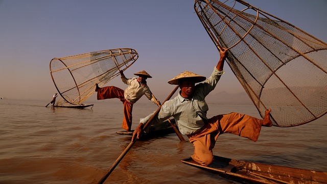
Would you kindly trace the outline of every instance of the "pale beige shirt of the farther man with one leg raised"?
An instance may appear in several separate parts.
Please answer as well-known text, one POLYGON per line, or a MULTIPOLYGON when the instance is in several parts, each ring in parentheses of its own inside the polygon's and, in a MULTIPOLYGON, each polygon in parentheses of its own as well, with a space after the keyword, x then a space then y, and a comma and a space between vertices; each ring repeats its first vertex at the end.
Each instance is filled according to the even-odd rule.
POLYGON ((121 75, 121 79, 125 84, 129 85, 124 90, 124 96, 128 102, 130 102, 131 104, 134 104, 143 95, 145 95, 149 100, 151 100, 151 102, 156 104, 156 99, 154 99, 154 97, 152 96, 150 88, 147 84, 145 84, 145 85, 140 84, 137 81, 137 78, 133 77, 131 79, 128 79, 125 77, 125 75, 121 75))

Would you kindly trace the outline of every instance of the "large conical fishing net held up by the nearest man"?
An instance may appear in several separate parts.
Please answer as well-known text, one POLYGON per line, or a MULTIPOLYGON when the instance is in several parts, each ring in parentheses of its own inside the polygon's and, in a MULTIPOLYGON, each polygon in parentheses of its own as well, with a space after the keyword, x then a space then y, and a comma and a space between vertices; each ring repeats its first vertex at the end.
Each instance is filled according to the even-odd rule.
POLYGON ((273 125, 290 127, 327 112, 325 42, 241 0, 194 8, 262 117, 271 108, 273 125))

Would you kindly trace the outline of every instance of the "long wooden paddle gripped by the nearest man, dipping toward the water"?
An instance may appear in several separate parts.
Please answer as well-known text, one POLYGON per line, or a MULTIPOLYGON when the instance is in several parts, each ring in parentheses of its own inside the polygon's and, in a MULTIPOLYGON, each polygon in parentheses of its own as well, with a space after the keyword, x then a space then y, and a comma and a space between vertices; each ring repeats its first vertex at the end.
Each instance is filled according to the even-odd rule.
MULTIPOLYGON (((174 93, 176 92, 177 89, 178 89, 178 85, 175 87, 175 89, 172 91, 172 93, 167 97, 167 99, 162 104, 164 104, 167 100, 172 98, 172 96, 174 95, 174 93)), ((160 111, 160 107, 154 112, 152 117, 144 125, 143 129, 145 129, 150 124, 150 122, 159 113, 159 111, 160 111)), ((131 141, 129 143, 129 145, 125 148, 125 150, 121 153, 121 155, 119 155, 119 157, 116 159, 116 161, 112 164, 111 168, 107 171, 107 173, 100 179, 98 184, 100 184, 100 183, 102 184, 107 179, 107 177, 111 174, 111 172, 114 170, 114 168, 121 162, 121 160, 124 158, 124 156, 127 154, 127 152, 132 148, 134 143, 136 143, 136 141, 137 141, 137 139, 135 139, 135 141, 131 141)))

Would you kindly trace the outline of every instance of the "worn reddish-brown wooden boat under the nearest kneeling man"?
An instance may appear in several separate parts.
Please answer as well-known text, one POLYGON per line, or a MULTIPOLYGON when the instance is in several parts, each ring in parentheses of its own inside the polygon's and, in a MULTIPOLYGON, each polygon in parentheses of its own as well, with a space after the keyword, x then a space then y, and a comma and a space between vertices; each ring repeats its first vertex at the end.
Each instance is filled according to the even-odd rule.
POLYGON ((327 183, 327 172, 252 163, 214 156, 214 163, 201 166, 191 157, 182 163, 240 183, 327 183))

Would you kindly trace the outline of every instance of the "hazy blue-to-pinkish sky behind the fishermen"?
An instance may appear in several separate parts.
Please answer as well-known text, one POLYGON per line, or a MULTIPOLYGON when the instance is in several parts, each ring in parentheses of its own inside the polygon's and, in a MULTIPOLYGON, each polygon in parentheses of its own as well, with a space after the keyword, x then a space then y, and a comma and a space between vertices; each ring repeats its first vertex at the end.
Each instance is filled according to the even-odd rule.
MULTIPOLYGON (((326 0, 247 2, 327 41, 326 0)), ((219 59, 192 0, 0 0, 0 97, 51 100, 52 58, 115 48, 137 50, 125 75, 146 70, 155 96, 170 94, 167 81, 185 70, 208 77, 219 59)), ((216 93, 243 91, 225 71, 216 93)), ((126 87, 119 77, 107 85, 126 87)))

